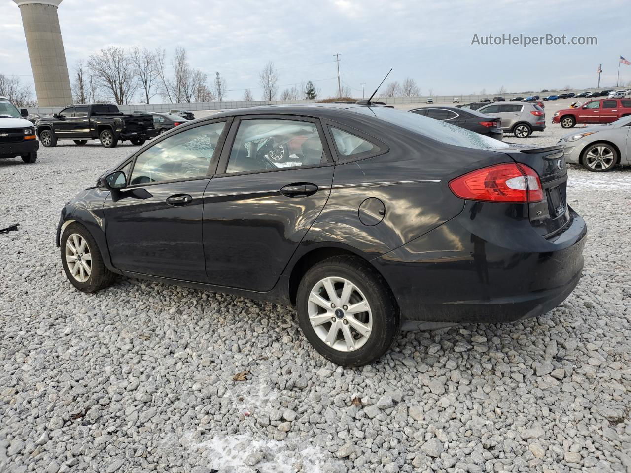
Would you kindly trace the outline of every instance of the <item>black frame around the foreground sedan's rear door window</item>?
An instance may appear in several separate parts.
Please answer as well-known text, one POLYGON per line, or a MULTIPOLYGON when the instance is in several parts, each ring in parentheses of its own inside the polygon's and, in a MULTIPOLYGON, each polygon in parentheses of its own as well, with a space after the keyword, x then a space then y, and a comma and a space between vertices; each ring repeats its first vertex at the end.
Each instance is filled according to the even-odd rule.
POLYGON ((232 176, 245 176, 249 174, 260 174, 266 172, 282 172, 282 171, 290 171, 293 169, 308 169, 308 168, 320 168, 322 166, 332 166, 334 165, 334 161, 332 159, 332 153, 329 149, 326 134, 324 134, 324 128, 322 127, 321 120, 317 117, 305 117, 303 115, 274 115, 274 114, 265 114, 265 115, 238 115, 233 117, 234 120, 232 122, 232 126, 230 127, 230 133, 225 141, 225 146, 223 146, 223 150, 221 151, 221 156, 218 160, 218 166, 216 168, 215 177, 223 178, 223 177, 232 177, 232 176), (324 157, 326 158, 326 163, 318 163, 318 164, 309 164, 304 166, 291 166, 286 168, 275 168, 275 169, 257 169, 252 171, 244 171, 244 172, 230 172, 227 173, 226 170, 228 168, 228 161, 230 160, 230 154, 232 153, 232 147, 235 144, 235 139, 237 139, 237 132, 239 131, 239 126, 244 120, 292 120, 294 122, 309 122, 315 125, 318 136, 320 137, 320 141, 322 142, 322 151, 324 151, 324 157))

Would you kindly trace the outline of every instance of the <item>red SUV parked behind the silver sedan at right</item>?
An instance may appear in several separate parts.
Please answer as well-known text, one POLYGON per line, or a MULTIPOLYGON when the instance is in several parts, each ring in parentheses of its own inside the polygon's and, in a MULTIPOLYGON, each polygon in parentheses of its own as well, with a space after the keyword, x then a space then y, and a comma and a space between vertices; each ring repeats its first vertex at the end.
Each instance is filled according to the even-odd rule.
POLYGON ((579 108, 555 112, 552 123, 572 128, 577 123, 609 123, 631 115, 631 98, 601 98, 584 103, 579 108))

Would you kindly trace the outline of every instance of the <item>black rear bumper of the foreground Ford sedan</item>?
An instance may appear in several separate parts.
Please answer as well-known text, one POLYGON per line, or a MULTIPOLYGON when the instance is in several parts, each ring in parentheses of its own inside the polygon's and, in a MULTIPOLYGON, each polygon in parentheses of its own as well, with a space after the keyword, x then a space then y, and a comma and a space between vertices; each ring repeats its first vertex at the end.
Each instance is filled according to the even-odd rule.
POLYGON ((468 202, 459 216, 372 260, 404 321, 521 320, 557 307, 575 288, 587 233, 581 216, 570 211, 569 226, 545 240, 528 219, 482 222, 478 204, 468 202))

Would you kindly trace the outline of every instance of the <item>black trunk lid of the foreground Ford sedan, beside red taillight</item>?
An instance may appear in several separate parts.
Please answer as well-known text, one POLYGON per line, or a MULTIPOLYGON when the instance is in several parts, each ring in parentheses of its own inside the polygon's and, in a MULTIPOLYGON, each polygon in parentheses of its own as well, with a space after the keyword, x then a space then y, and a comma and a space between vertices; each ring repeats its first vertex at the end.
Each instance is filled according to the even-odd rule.
POLYGON ((567 206, 567 166, 563 158, 563 145, 531 148, 509 144, 501 151, 517 163, 530 166, 539 175, 543 188, 543 201, 528 204, 529 218, 541 237, 552 238, 570 223, 567 206))

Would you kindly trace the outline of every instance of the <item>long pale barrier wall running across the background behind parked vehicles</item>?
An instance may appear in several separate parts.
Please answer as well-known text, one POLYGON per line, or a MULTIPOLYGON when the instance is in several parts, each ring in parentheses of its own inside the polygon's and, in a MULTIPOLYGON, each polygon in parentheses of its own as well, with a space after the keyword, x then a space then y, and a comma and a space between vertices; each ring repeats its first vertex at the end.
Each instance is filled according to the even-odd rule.
MULTIPOLYGON (((460 103, 470 103, 470 102, 480 102, 482 98, 490 98, 493 100, 493 96, 501 95, 506 100, 510 100, 510 98, 514 98, 517 96, 526 97, 528 95, 540 95, 542 98, 547 95, 558 95, 560 93, 574 92, 579 93, 582 91, 595 91, 595 90, 603 90, 600 89, 575 89, 575 90, 558 90, 558 91, 550 91, 550 92, 533 92, 533 93, 489 93, 487 95, 434 95, 432 96, 433 103, 452 103, 454 97, 458 97, 460 99, 460 103)), ((396 108, 405 108, 406 104, 409 104, 410 107, 413 105, 427 103, 427 99, 429 96, 417 96, 417 97, 380 97, 377 100, 379 102, 386 102, 388 105, 394 105, 396 108)), ((584 101, 585 99, 582 99, 584 101)), ((285 105, 288 103, 317 103, 319 100, 254 100, 252 102, 199 102, 199 103, 151 103, 147 105, 146 103, 138 103, 134 105, 119 105, 119 109, 121 112, 125 114, 129 114, 134 112, 135 110, 144 110, 145 112, 158 112, 165 113, 170 110, 189 110, 190 112, 196 112, 198 110, 229 110, 232 108, 247 108, 247 107, 259 107, 261 105, 285 105)), ((70 104, 69 104, 70 105, 70 104)), ((28 108, 28 112, 31 114, 38 115, 50 115, 59 112, 64 107, 35 107, 28 108)))

